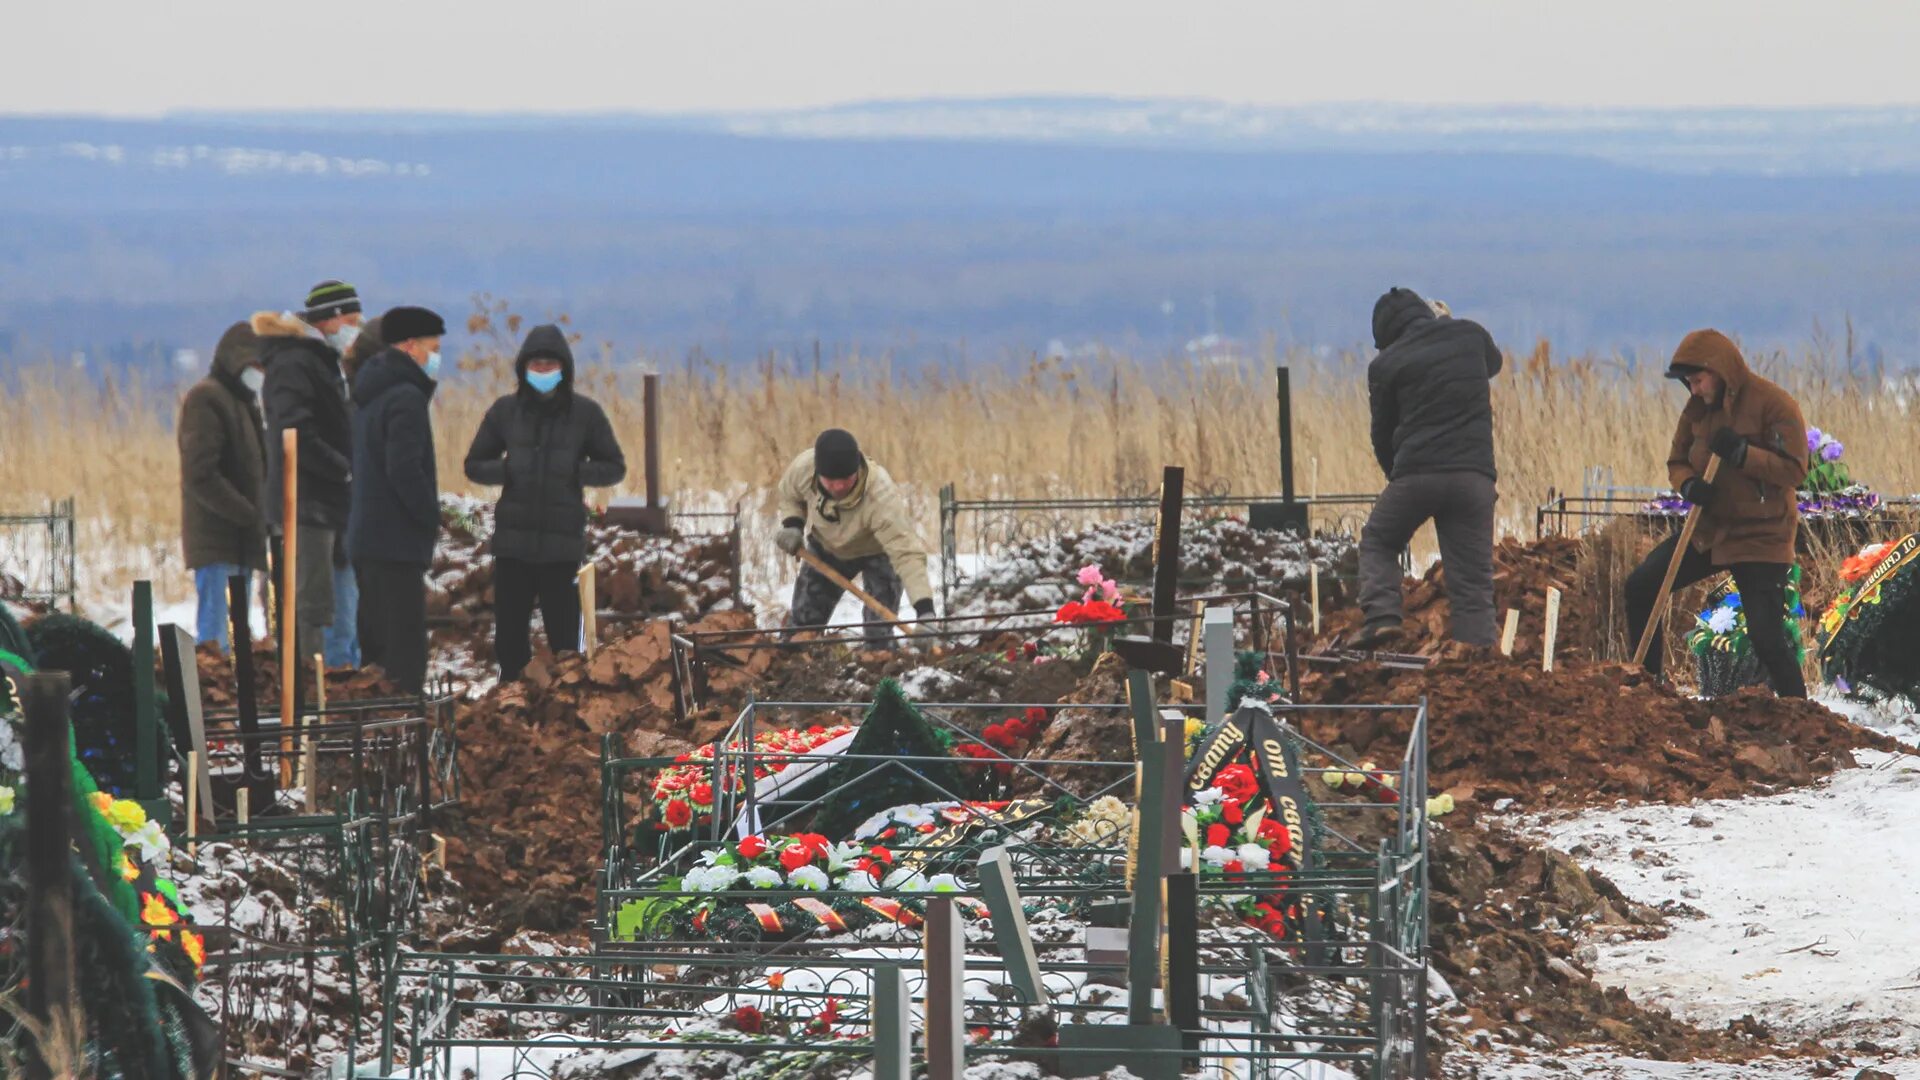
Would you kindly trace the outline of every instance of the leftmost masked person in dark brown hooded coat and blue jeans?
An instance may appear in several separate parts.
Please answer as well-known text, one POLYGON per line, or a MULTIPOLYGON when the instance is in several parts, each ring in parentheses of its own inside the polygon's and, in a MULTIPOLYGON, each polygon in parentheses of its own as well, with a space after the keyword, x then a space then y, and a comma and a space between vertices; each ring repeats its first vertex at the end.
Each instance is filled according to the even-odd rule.
POLYGON ((200 598, 196 638, 227 650, 227 580, 267 569, 261 488, 259 338, 234 323, 213 350, 213 369, 180 402, 180 542, 200 598))

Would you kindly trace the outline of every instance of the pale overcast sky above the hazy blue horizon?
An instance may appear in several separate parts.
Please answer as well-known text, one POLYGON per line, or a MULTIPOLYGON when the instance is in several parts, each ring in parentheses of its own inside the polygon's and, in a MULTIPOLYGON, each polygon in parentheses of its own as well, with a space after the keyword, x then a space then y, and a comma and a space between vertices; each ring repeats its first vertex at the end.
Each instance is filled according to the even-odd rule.
POLYGON ((707 111, 1016 94, 1920 104, 1920 4, 23 0, 0 111, 707 111))

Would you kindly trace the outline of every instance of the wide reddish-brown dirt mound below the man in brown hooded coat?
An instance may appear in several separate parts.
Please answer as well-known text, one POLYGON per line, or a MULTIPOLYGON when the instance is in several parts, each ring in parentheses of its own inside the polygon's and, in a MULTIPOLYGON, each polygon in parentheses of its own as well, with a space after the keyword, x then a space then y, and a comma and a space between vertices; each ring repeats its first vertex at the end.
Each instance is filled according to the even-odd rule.
MULTIPOLYGON (((1899 751, 1811 701, 1764 690, 1699 701, 1620 665, 1442 661, 1427 671, 1352 665, 1309 673, 1306 701, 1396 703, 1427 698, 1432 790, 1528 807, 1613 799, 1684 803, 1811 784, 1853 765, 1857 748, 1899 751)), ((1405 713, 1327 713, 1308 734, 1369 755, 1402 748, 1405 713)), ((1398 757, 1398 753, 1396 753, 1398 757)))

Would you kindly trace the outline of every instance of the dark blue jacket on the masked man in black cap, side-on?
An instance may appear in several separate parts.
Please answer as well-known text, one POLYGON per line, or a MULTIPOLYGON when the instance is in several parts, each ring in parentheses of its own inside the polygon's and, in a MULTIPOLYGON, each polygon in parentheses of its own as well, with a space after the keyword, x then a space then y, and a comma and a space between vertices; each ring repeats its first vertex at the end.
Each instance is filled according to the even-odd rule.
POLYGON ((348 552, 428 567, 440 536, 434 380, 399 350, 384 350, 353 379, 353 523, 348 552))

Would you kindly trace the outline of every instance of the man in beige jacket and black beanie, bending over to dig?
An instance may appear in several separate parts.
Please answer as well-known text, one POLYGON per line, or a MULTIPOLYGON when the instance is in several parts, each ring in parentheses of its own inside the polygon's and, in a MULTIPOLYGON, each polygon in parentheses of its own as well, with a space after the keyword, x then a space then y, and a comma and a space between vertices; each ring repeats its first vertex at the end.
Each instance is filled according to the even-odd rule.
MULTIPOLYGON (((828 429, 812 450, 787 465, 780 479, 780 509, 774 542, 781 552, 799 555, 806 544, 841 577, 860 577, 866 592, 889 609, 899 611, 904 586, 914 596, 914 615, 933 615, 927 546, 906 511, 906 496, 887 469, 860 454, 852 434, 828 429)), ((826 575, 801 565, 787 625, 826 626, 843 594, 826 575)), ((868 644, 885 646, 891 636, 883 623, 866 623, 868 644)))

